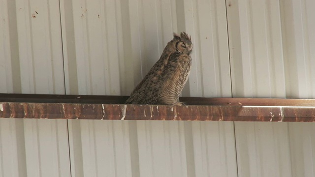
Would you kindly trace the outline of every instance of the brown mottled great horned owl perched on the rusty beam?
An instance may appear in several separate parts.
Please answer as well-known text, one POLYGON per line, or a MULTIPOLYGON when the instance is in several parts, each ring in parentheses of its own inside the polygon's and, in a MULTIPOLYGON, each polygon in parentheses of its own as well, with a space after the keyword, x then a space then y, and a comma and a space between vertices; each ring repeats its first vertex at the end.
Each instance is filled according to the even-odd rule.
POLYGON ((173 33, 160 59, 131 92, 125 104, 182 105, 179 95, 191 66, 191 38, 186 32, 173 33))

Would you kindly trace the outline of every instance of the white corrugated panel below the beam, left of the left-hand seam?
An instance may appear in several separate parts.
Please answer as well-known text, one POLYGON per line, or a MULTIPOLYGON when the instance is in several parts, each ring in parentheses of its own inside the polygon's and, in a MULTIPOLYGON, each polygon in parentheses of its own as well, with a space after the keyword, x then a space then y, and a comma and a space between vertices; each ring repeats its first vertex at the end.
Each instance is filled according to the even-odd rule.
POLYGON ((66 120, 0 119, 0 177, 69 177, 66 120))

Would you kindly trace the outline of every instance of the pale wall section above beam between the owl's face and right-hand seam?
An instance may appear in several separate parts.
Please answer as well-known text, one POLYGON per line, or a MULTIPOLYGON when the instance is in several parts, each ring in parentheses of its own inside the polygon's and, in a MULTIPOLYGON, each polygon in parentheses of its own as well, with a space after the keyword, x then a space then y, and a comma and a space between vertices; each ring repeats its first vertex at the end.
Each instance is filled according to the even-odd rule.
MULTIPOLYGON (((191 34, 194 44, 189 82, 183 95, 230 96, 228 41, 224 32, 227 30, 225 2, 196 0, 184 2, 183 6, 184 17, 177 17, 185 21, 181 28, 191 34)), ((183 7, 179 5, 178 8, 183 7)))

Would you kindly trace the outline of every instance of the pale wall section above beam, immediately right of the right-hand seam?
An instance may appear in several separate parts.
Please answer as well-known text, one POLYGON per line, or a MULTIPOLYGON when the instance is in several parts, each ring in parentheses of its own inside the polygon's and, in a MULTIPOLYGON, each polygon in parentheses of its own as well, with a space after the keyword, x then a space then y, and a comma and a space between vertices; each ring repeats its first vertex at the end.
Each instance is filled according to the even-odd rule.
POLYGON ((280 5, 277 0, 227 4, 234 97, 285 97, 280 5))

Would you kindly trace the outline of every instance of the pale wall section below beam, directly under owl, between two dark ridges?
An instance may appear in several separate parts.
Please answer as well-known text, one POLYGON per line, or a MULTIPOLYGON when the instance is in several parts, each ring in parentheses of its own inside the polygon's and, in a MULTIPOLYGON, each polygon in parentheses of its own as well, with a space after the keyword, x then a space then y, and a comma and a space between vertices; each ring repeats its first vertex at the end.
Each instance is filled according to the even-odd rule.
POLYGON ((183 123, 137 121, 140 176, 187 177, 183 123))

